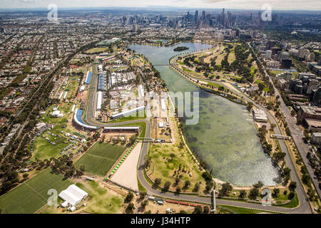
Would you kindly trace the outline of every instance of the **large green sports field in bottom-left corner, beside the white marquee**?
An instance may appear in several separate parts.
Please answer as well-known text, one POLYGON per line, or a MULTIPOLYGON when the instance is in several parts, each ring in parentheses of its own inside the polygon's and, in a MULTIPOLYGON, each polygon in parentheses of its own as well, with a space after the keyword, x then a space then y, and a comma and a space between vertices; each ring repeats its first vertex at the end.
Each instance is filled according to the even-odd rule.
POLYGON ((63 180, 63 175, 51 173, 51 168, 36 177, 24 182, 14 190, 0 197, 0 208, 6 214, 31 214, 47 203, 51 195, 48 190, 54 189, 59 194, 73 182, 63 180))

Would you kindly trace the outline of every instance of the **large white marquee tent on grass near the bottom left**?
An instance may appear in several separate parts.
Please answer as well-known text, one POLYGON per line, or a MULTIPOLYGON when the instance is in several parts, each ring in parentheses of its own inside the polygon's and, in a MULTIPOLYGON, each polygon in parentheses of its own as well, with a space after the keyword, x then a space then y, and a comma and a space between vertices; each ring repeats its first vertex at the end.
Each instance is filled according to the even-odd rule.
POLYGON ((80 203, 81 200, 88 196, 88 193, 81 190, 76 185, 70 185, 66 190, 63 190, 58 197, 71 204, 71 206, 75 206, 80 203))

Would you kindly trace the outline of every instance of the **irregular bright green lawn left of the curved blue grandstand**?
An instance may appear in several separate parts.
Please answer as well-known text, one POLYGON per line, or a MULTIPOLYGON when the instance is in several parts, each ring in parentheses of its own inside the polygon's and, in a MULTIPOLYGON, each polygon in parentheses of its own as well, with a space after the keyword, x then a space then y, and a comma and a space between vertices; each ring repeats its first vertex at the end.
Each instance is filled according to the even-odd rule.
MULTIPOLYGON (((51 130, 51 133, 54 133, 58 135, 56 131, 51 130)), ((52 145, 51 143, 47 142, 46 138, 43 138, 42 136, 39 136, 34 140, 34 152, 32 153, 31 160, 34 161, 36 159, 44 160, 44 159, 50 159, 50 157, 56 157, 61 150, 63 150, 64 147, 71 144, 68 142, 68 144, 65 144, 63 142, 66 142, 66 138, 58 138, 49 135, 47 132, 44 132, 46 137, 48 137, 51 142, 56 142, 56 145, 52 145)))

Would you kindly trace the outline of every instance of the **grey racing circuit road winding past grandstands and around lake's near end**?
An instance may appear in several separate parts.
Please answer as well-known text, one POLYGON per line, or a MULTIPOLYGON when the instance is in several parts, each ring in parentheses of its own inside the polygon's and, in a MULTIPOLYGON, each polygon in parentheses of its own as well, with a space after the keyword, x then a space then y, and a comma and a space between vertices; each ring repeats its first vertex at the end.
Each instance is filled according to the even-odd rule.
MULTIPOLYGON (((93 78, 92 78, 92 84, 91 84, 91 93, 89 95, 88 100, 88 108, 86 110, 86 122, 90 125, 98 126, 98 127, 106 127, 106 126, 113 126, 113 125, 119 125, 119 124, 126 124, 126 123, 139 123, 139 122, 145 122, 146 123, 146 137, 151 137, 151 123, 149 119, 145 120, 133 120, 128 122, 122 122, 122 123, 100 123, 97 122, 94 119, 94 112, 96 108, 96 91, 97 91, 97 82, 98 82, 98 75, 97 75, 97 69, 95 67, 93 72, 93 78)), ((246 98, 249 99, 249 98, 246 98)), ((253 101, 251 101, 253 102, 253 101)), ((259 105, 260 107, 260 105, 259 105)), ((265 110, 265 108, 263 108, 265 110)), ((268 115, 268 113, 267 113, 268 115)), ((274 119, 272 118, 272 121, 274 119)), ((274 120, 275 121, 275 120, 274 120)), ((273 122, 272 122, 273 123, 273 122)), ((277 133, 277 131, 276 131, 277 133)), ((160 190, 153 189, 151 185, 148 184, 147 180, 144 177, 144 171, 143 171, 143 164, 144 164, 144 157, 148 154, 148 145, 149 142, 144 142, 141 150, 141 155, 138 160, 138 180, 141 182, 141 185, 146 188, 148 195, 155 195, 170 199, 179 199, 179 200, 185 200, 190 202, 199 202, 199 203, 206 203, 210 204, 211 198, 210 197, 200 197, 196 195, 175 195, 171 192, 161 192, 160 190)), ((282 147, 282 150, 287 151, 286 147, 284 145, 284 142, 280 141, 280 145, 282 147)), ((290 160, 290 157, 288 157, 288 153, 286 156, 287 163, 292 165, 292 162, 290 160)), ((291 175, 296 182, 300 183, 300 181, 297 180, 297 175, 295 172, 295 169, 293 167, 291 168, 291 175)), ((300 199, 300 206, 295 209, 290 209, 287 207, 276 207, 276 206, 263 206, 263 204, 257 204, 257 203, 250 203, 250 202, 238 202, 238 201, 232 201, 232 200, 226 200, 226 199, 216 199, 217 204, 225 204, 235 207, 248 207, 253 209, 261 209, 261 210, 270 210, 273 212, 282 212, 282 213, 295 213, 295 214, 306 214, 311 213, 309 204, 307 203, 307 200, 305 199, 305 194, 302 192, 302 186, 297 186, 297 195, 300 199)))

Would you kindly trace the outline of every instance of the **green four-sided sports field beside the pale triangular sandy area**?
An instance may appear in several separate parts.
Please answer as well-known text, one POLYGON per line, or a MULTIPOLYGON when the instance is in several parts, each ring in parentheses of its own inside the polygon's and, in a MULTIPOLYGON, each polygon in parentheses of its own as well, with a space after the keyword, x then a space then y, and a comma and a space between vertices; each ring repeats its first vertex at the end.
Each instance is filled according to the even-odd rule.
POLYGON ((125 147, 96 142, 75 164, 85 166, 85 172, 103 177, 124 152, 125 147))

